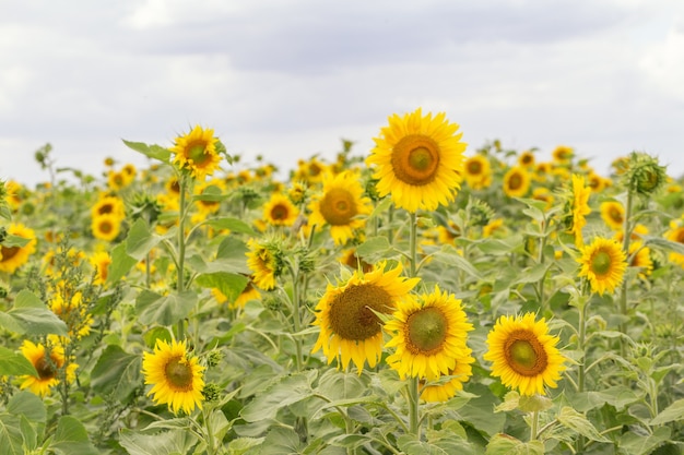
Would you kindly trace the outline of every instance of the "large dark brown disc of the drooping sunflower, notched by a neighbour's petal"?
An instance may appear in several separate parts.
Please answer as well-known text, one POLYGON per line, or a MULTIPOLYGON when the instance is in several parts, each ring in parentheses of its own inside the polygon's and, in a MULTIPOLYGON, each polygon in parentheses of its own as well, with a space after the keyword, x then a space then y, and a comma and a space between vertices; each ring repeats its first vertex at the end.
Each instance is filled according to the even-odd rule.
POLYGON ((381 287, 351 286, 332 300, 330 326, 343 339, 362 342, 380 333, 381 322, 373 311, 389 314, 392 309, 392 299, 381 287))

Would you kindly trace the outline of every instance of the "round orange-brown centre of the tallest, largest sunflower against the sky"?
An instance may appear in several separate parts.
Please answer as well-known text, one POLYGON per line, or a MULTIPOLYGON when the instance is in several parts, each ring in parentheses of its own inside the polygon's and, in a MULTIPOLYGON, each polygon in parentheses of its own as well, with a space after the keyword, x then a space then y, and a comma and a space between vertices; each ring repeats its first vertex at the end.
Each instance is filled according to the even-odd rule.
POLYGON ((437 176, 439 145, 423 134, 409 134, 394 145, 391 163, 394 175, 404 183, 428 184, 437 176))

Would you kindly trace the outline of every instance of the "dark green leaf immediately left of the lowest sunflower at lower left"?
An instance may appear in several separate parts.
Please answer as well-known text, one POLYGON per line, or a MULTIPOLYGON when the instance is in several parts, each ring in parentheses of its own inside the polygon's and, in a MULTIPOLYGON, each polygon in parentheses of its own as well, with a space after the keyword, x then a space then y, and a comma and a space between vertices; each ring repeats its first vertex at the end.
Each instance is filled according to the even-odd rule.
POLYGON ((118 402, 128 403, 133 392, 142 385, 141 367, 139 355, 109 345, 93 367, 91 385, 102 395, 111 395, 118 402))

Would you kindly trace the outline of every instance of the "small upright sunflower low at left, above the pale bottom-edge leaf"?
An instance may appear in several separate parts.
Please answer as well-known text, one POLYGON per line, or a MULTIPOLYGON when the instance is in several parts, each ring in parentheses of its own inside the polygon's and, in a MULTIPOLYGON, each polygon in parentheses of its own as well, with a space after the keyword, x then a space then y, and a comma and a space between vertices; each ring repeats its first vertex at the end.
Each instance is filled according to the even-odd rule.
POLYGON ((185 340, 168 344, 157 338, 154 354, 143 352, 145 384, 153 385, 148 395, 154 395, 157 405, 168 404, 174 414, 202 408, 203 371, 198 358, 188 355, 185 340))

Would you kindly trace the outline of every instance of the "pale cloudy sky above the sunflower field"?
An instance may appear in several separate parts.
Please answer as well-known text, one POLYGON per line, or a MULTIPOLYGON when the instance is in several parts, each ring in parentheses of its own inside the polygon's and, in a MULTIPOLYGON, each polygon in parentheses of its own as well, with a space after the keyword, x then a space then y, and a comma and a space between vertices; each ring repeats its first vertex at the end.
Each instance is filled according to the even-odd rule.
MULTIPOLYGON (((392 113, 460 125, 467 154, 632 151, 684 173, 682 0, 0 0, 0 179, 34 159, 102 176, 212 128, 240 167, 366 156, 392 113)), ((229 170, 229 169, 228 169, 229 170)), ((61 173, 60 176, 67 176, 61 173)))

